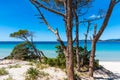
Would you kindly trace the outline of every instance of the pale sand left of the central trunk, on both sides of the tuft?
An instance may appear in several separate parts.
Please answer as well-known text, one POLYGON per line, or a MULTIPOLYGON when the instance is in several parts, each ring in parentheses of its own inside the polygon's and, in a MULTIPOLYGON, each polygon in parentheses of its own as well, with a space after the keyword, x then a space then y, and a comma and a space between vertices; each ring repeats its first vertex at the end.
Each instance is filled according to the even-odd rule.
MULTIPOLYGON (((25 80, 25 73, 30 67, 35 67, 28 65, 29 62, 26 61, 18 61, 18 60, 3 60, 0 61, 0 68, 4 67, 8 71, 8 75, 0 76, 0 80, 5 80, 9 76, 13 78, 13 80, 25 80), (19 64, 21 67, 18 68, 9 68, 10 65, 19 64)), ((49 80, 64 80, 66 78, 65 72, 58 68, 48 67, 43 70, 45 73, 49 74, 49 80)), ((38 80, 47 80, 44 78, 39 78, 38 80)))

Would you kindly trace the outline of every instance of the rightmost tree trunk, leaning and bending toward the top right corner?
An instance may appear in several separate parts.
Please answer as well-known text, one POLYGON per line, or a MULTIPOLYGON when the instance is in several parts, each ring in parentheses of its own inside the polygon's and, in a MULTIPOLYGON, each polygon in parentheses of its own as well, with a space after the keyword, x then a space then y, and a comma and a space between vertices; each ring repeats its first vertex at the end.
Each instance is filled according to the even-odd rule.
MULTIPOLYGON (((118 1, 120 2, 120 1, 118 1)), ((92 42, 92 52, 90 54, 90 62, 89 62, 89 76, 93 77, 93 71, 94 71, 94 55, 95 55, 95 50, 96 50, 96 43, 99 40, 100 36, 102 35, 103 31, 105 30, 105 28, 107 27, 107 24, 109 22, 110 16, 112 14, 112 11, 114 9, 114 6, 116 5, 116 0, 111 0, 107 14, 105 16, 105 19, 103 21, 103 24, 100 28, 100 30, 98 31, 98 33, 96 34, 95 38, 93 39, 92 42)))

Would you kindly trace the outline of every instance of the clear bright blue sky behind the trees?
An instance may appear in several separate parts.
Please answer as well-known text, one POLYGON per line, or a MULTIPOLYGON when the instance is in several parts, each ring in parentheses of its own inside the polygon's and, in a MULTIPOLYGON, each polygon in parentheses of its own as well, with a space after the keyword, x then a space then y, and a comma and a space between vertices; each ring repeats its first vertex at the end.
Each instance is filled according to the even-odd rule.
MULTIPOLYGON (((106 10, 110 0, 94 0, 92 7, 89 9, 88 18, 97 16, 100 9, 106 10)), ((50 25, 56 29, 58 27, 62 40, 66 40, 65 26, 62 17, 42 10, 50 25)), ((10 33, 20 29, 27 29, 34 33, 34 41, 56 41, 55 35, 47 29, 44 23, 38 19, 38 12, 29 0, 1 0, 0 2, 0 41, 20 41, 9 37, 10 33)), ((85 16, 85 17, 86 17, 85 16)), ((120 4, 117 4, 113 10, 109 24, 102 34, 102 40, 120 39, 120 4)), ((103 20, 93 22, 97 23, 99 30, 103 20)), ((93 27, 90 28, 89 37, 92 35, 93 27)), ((80 26, 80 39, 84 39, 86 27, 80 26)), ((73 30, 75 32, 75 30, 73 30)), ((75 37, 73 33, 73 37, 75 37)))

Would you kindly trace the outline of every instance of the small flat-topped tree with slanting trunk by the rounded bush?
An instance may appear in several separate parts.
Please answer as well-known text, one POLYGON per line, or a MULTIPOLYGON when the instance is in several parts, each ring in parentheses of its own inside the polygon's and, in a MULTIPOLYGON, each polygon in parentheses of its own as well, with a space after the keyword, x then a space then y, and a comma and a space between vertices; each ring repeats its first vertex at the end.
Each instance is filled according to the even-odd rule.
MULTIPOLYGON (((40 51, 40 50, 38 50, 37 48, 36 48, 36 46, 34 45, 34 42, 33 42, 33 32, 30 32, 30 31, 28 31, 28 30, 19 30, 19 31, 17 31, 17 32, 13 32, 13 33, 11 33, 10 34, 10 37, 13 37, 13 38, 19 38, 19 39, 21 39, 21 40, 24 40, 24 42, 27 44, 26 46, 29 46, 29 47, 26 47, 25 46, 25 52, 27 51, 29 51, 29 49, 30 50, 32 50, 32 53, 31 53, 31 51, 30 51, 30 53, 31 53, 31 55, 34 57, 36 57, 37 56, 37 58, 39 59, 39 61, 41 62, 41 56, 44 56, 44 57, 46 57, 44 54, 43 54, 43 52, 42 51, 40 51)), ((28 54, 27 54, 28 55, 28 54)), ((18 57, 19 55, 17 55, 17 57, 18 57)))

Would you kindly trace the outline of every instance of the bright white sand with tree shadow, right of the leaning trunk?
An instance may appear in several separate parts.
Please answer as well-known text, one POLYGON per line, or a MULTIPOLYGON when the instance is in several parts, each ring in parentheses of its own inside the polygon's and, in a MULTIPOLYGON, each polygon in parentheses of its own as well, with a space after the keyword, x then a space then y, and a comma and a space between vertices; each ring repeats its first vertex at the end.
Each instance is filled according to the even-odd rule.
MULTIPOLYGON (((95 80, 120 80, 120 62, 115 61, 100 61, 102 66, 94 71, 95 80)), ((89 77, 83 77, 82 80, 94 80, 89 77)))

